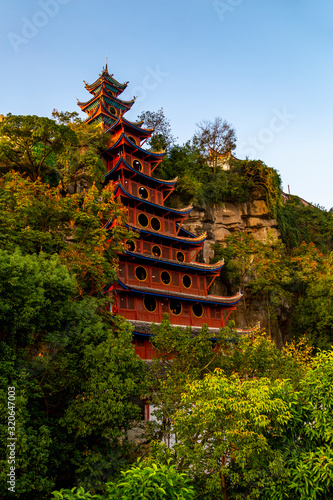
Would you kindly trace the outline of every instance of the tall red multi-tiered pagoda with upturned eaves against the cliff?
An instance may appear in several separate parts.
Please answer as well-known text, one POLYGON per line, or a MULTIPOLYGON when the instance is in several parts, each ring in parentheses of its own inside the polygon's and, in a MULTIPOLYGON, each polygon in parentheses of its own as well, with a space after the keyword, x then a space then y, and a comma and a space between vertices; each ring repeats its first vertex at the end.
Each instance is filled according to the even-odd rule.
POLYGON ((151 359, 151 325, 161 323, 165 313, 173 325, 190 326, 192 331, 207 324, 214 337, 226 325, 241 294, 209 294, 223 262, 202 264, 195 260, 206 233, 196 236, 184 228, 192 206, 176 209, 166 205, 177 178, 154 177, 165 152, 144 149, 153 129, 124 118, 134 103, 134 99, 118 97, 126 85, 117 82, 106 66, 93 84, 86 84, 93 97, 78 104, 88 114, 86 121, 100 123, 110 136, 103 153, 108 170, 105 181, 114 183, 115 196, 128 210, 127 227, 138 235, 124 242, 118 280, 107 291, 115 294, 117 312, 134 325, 136 353, 151 359))

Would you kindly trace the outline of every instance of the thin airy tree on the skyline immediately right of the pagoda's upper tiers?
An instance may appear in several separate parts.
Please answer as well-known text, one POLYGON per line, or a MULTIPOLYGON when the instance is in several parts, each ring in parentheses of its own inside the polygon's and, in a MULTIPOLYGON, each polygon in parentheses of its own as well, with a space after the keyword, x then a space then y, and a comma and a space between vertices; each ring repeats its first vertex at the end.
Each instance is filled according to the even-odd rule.
POLYGON ((175 138, 171 134, 169 120, 165 117, 163 108, 158 111, 143 111, 138 116, 139 121, 143 121, 145 128, 153 128, 154 132, 147 141, 147 145, 152 151, 169 150, 174 144, 175 138))

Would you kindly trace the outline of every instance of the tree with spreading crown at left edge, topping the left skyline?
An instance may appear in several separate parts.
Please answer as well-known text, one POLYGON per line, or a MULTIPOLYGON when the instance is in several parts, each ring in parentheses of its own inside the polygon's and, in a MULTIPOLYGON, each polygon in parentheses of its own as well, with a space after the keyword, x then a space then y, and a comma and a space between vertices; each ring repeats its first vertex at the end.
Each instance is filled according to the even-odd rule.
POLYGON ((77 145, 67 125, 39 116, 7 115, 0 124, 0 169, 20 172, 31 181, 59 183, 57 156, 77 145))

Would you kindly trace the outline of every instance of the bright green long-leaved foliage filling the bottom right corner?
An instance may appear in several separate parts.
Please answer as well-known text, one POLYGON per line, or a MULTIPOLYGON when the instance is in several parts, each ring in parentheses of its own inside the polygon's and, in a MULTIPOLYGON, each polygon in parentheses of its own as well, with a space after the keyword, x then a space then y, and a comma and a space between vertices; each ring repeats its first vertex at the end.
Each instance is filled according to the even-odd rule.
POLYGON ((267 498, 326 500, 333 494, 333 352, 321 352, 301 380, 298 405, 285 433, 287 481, 268 488, 267 498))

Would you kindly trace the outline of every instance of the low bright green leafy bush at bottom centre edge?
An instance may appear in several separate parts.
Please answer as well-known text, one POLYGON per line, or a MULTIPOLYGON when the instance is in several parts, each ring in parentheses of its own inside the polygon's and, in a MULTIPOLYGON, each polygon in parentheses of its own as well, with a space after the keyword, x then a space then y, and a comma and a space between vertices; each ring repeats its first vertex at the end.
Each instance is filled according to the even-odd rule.
POLYGON ((121 479, 109 483, 108 500, 192 500, 194 489, 189 485, 186 474, 177 472, 174 465, 147 465, 144 461, 126 471, 121 479))

